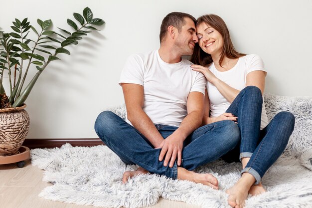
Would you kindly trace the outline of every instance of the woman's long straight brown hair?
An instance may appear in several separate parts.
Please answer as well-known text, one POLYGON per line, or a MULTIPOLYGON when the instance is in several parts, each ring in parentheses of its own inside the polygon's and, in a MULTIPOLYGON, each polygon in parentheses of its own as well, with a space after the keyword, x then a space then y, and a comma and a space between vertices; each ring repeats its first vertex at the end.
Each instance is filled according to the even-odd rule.
MULTIPOLYGON (((231 41, 229 30, 223 21, 223 19, 215 14, 206 14, 198 17, 196 25, 201 23, 206 23, 209 26, 213 27, 215 30, 220 32, 223 38, 223 48, 221 51, 221 57, 219 64, 222 67, 221 63, 224 59, 224 56, 227 58, 239 58, 245 56, 244 53, 239 53, 235 50, 233 43, 231 41)), ((193 55, 191 56, 191 62, 194 64, 199 64, 202 66, 209 66, 213 61, 211 55, 205 53, 200 47, 199 44, 195 44, 193 55)))

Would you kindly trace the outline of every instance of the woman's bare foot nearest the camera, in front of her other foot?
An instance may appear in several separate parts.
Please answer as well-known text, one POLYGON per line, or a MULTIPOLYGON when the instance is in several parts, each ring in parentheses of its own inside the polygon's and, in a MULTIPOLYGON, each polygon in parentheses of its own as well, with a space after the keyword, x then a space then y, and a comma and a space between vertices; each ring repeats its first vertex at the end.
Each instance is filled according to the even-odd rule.
POLYGON ((243 208, 245 206, 248 191, 255 181, 251 174, 244 173, 232 188, 226 190, 226 193, 230 195, 227 201, 232 208, 243 208))

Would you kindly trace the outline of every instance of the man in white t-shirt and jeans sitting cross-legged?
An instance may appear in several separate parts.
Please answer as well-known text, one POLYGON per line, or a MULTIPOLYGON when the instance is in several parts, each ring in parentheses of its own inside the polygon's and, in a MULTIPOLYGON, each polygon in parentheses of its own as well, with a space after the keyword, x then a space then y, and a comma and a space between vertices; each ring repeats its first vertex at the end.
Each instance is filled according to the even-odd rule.
POLYGON ((160 48, 130 56, 124 66, 123 88, 127 119, 102 112, 95 130, 103 142, 126 164, 140 166, 125 172, 129 177, 148 172, 189 180, 218 189, 211 174, 191 170, 214 161, 239 141, 238 126, 229 120, 201 126, 204 113, 204 76, 192 71, 191 55, 196 20, 171 12, 160 27, 160 48))

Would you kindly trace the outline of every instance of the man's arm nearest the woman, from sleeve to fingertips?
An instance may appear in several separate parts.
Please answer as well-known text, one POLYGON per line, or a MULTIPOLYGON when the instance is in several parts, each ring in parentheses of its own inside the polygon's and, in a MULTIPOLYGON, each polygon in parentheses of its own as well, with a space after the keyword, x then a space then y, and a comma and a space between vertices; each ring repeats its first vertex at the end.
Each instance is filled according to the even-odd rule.
POLYGON ((204 115, 204 95, 201 92, 190 92, 186 107, 187 116, 183 119, 179 128, 168 136, 160 145, 162 149, 159 154, 159 161, 162 161, 166 154, 163 165, 167 166, 170 161, 170 168, 173 167, 176 156, 177 165, 181 165, 183 141, 195 129, 200 127, 202 123, 204 115))

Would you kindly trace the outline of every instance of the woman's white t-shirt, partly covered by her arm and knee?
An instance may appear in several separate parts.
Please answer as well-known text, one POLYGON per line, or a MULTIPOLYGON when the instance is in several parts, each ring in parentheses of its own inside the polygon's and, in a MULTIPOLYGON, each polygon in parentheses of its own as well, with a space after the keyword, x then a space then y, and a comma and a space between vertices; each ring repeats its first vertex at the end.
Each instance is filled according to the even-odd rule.
MULTIPOLYGON (((210 65, 209 69, 218 79, 237 90, 242 90, 246 87, 246 77, 249 72, 257 70, 266 72, 262 59, 256 54, 240 57, 236 65, 227 71, 218 71, 214 63, 210 65)), ((207 82, 206 87, 210 101, 210 116, 217 117, 223 114, 228 109, 228 107, 230 107, 231 103, 210 82, 207 82)), ((268 116, 266 114, 266 109, 263 102, 261 129, 267 125, 268 116)))

